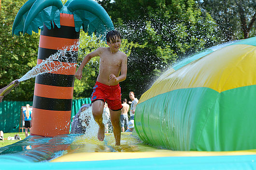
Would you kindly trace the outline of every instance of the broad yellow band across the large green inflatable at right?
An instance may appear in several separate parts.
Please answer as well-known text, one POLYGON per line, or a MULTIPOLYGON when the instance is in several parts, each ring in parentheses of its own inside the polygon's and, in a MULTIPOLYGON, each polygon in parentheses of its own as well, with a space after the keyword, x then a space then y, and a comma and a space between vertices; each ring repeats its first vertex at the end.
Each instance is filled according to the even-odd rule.
POLYGON ((139 103, 176 89, 209 87, 223 91, 256 85, 256 47, 232 45, 216 50, 179 70, 160 76, 139 103), (250 81, 248 81, 250 80, 250 81))

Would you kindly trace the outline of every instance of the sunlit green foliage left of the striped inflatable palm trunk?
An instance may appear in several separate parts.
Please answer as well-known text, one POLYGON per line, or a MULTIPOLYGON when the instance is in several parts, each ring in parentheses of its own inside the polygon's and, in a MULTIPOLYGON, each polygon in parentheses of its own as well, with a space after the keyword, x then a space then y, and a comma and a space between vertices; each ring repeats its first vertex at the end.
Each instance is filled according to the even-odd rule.
MULTIPOLYGON (((0 15, 0 88, 21 78, 37 62, 39 35, 12 36, 16 13, 27 0, 1 1, 0 15)), ((34 79, 21 82, 4 100, 32 100, 34 79)))

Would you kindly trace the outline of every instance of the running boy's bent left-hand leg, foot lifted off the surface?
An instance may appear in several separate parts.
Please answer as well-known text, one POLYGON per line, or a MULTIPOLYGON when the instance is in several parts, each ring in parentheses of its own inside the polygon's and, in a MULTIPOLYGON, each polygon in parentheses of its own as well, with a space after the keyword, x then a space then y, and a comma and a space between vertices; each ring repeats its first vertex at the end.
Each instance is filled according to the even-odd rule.
POLYGON ((92 115, 94 120, 99 125, 99 131, 98 131, 98 139, 100 141, 104 140, 105 137, 105 126, 103 124, 102 119, 102 113, 104 109, 104 101, 102 100, 96 100, 92 103, 92 115))

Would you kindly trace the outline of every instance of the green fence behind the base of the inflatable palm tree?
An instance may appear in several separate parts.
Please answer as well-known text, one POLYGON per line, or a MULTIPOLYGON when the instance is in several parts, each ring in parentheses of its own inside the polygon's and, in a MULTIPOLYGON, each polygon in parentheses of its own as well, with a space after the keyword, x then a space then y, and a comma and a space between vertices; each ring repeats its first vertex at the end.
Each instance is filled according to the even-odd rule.
MULTIPOLYGON (((90 98, 74 99, 72 101, 71 117, 83 104, 91 103, 90 98)), ((0 103, 0 130, 4 133, 19 132, 20 109, 22 106, 33 105, 32 101, 2 101, 0 103)))

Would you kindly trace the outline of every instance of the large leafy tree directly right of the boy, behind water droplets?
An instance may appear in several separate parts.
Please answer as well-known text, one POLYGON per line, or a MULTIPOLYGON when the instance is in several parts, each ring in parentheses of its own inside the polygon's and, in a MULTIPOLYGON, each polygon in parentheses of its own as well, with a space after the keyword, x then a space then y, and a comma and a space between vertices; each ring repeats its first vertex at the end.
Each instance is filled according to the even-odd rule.
POLYGON ((128 76, 122 93, 137 97, 176 60, 220 42, 217 27, 195 0, 99 0, 114 26, 129 42, 145 44, 132 48, 128 76))

